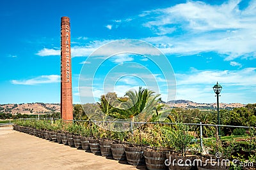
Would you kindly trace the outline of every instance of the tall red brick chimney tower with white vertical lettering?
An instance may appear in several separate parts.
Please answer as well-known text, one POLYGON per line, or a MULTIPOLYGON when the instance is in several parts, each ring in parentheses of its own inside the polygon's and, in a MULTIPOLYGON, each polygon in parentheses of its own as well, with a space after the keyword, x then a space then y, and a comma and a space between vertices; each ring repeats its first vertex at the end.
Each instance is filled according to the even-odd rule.
POLYGON ((61 118, 73 120, 70 22, 61 17, 61 118))

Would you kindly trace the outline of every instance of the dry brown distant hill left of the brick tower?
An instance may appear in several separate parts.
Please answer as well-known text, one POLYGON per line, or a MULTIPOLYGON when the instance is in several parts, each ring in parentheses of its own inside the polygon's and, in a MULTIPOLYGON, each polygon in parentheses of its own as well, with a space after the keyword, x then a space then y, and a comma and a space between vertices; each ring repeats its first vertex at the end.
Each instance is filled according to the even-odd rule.
POLYGON ((60 104, 49 103, 22 103, 22 104, 0 104, 0 112, 38 114, 60 112, 60 104))

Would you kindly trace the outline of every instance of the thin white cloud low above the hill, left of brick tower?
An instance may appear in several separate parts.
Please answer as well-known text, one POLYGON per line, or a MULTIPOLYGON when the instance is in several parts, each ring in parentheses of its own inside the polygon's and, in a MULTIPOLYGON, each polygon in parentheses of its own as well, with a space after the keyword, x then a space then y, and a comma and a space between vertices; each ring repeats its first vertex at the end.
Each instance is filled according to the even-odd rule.
POLYGON ((38 85, 43 83, 59 83, 59 75, 43 75, 28 80, 12 80, 14 85, 38 85))

